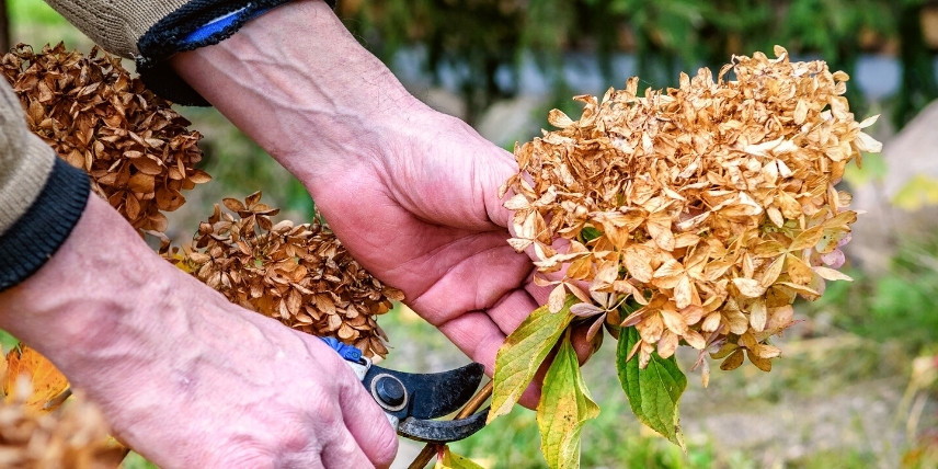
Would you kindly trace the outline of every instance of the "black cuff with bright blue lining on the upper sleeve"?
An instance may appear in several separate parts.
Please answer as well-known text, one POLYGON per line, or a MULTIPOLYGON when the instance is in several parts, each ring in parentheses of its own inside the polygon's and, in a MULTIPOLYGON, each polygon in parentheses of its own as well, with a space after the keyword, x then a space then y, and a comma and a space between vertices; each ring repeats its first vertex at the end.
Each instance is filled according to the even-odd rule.
MULTIPOLYGON (((248 21, 290 0, 191 0, 153 24, 137 42, 137 72, 147 88, 183 105, 209 105, 170 67, 173 54, 218 44, 248 21)), ((327 1, 330 7, 333 1, 327 1)))

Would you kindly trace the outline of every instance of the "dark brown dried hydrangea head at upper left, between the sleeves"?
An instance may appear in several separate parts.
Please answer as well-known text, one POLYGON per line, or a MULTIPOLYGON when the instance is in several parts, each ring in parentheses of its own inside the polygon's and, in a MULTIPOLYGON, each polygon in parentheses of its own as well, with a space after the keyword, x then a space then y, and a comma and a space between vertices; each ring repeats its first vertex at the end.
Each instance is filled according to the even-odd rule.
POLYGON ((36 54, 20 44, 0 60, 26 111, 30 130, 92 178, 138 230, 164 231, 162 211, 179 208, 181 191, 207 182, 194 169, 202 137, 170 103, 131 78, 119 58, 85 57, 62 44, 36 54))

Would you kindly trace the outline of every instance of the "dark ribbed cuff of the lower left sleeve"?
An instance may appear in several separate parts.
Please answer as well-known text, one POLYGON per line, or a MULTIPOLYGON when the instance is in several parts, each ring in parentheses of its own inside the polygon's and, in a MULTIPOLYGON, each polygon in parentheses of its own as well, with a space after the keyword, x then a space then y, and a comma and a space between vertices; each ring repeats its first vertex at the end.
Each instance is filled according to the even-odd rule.
POLYGON ((90 192, 88 174, 56 158, 43 192, 0 236, 0 291, 33 275, 58 251, 81 218, 90 192))

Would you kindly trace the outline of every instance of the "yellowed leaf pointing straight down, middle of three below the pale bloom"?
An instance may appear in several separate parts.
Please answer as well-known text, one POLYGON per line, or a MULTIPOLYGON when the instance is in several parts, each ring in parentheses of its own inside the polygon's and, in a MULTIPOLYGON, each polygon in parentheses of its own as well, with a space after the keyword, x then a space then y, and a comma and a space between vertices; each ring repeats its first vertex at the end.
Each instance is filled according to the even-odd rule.
POLYGON ((596 415, 599 415, 599 407, 583 382, 576 352, 567 334, 544 378, 537 405, 540 449, 548 466, 580 467, 580 432, 583 424, 596 415))

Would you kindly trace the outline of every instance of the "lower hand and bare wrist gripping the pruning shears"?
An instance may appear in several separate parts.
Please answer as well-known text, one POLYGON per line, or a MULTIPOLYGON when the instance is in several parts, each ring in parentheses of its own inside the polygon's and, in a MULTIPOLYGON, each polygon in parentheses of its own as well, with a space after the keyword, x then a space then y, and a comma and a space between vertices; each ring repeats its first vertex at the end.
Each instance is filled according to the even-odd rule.
POLYGON ((94 196, 46 265, 0 294, 0 327, 161 467, 386 467, 397 450, 329 346, 231 305, 94 196))

